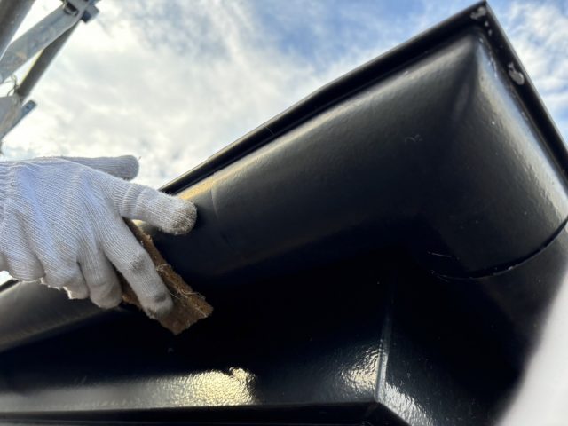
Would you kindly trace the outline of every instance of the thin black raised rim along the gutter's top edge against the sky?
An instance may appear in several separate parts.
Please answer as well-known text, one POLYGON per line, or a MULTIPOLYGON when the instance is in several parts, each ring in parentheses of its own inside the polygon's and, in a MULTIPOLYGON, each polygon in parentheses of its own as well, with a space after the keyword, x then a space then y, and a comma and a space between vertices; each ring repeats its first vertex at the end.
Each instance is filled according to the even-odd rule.
POLYGON ((280 134, 296 127, 301 122, 319 114, 339 100, 348 97, 351 93, 360 91, 364 87, 383 79, 397 69, 404 67, 408 61, 420 58, 428 54, 433 45, 443 43, 449 37, 454 36, 463 28, 475 26, 482 29, 492 43, 492 49, 503 69, 509 69, 512 64, 520 75, 523 75, 524 83, 517 86, 519 99, 522 99, 528 109, 532 111, 535 126, 548 141, 550 149, 563 164, 566 173, 568 164, 568 150, 563 138, 556 129, 550 114, 539 93, 536 91, 531 78, 525 70, 509 42, 505 32, 488 2, 478 2, 469 6, 462 12, 441 21, 438 25, 414 36, 405 43, 401 43, 390 51, 366 64, 357 67, 348 74, 342 75, 331 83, 327 83, 319 90, 314 91, 308 97, 289 107, 286 111, 276 115, 268 122, 264 122, 255 130, 248 132, 242 138, 237 139, 216 154, 210 156, 205 162, 187 171, 180 177, 163 185, 161 190, 166 193, 179 193, 190 185, 194 185, 201 179, 210 176, 217 170, 237 161, 244 155, 264 146, 280 134))

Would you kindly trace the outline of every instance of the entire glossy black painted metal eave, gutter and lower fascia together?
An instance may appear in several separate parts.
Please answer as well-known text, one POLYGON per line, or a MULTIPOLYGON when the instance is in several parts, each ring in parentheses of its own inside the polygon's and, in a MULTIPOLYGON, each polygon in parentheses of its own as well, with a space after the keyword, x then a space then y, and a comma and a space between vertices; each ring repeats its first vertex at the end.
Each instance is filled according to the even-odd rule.
POLYGON ((164 188, 198 226, 148 231, 211 319, 173 337, 61 297, 11 320, 0 292, 4 349, 84 326, 0 355, 0 415, 490 424, 564 280, 566 158, 477 4, 164 188))

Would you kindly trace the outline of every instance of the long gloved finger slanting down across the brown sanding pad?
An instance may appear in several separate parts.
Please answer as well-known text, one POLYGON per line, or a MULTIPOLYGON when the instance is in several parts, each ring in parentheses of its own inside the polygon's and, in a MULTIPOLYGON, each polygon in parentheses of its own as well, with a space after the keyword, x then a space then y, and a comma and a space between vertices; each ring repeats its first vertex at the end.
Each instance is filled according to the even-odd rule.
POLYGON ((170 312, 173 302, 155 266, 122 218, 104 231, 106 256, 130 283, 146 314, 159 318, 170 312))

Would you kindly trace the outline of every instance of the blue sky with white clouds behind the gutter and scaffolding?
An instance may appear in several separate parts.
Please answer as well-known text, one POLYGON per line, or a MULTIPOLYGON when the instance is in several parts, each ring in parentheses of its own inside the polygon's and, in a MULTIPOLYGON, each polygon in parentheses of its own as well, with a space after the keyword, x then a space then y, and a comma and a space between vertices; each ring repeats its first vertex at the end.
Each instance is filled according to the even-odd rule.
MULTIPOLYGON (((59 4, 36 0, 22 30, 59 4)), ((137 181, 159 187, 469 4, 102 0, 36 86, 4 159, 133 154, 137 181)), ((491 5, 568 139, 568 0, 491 5)))

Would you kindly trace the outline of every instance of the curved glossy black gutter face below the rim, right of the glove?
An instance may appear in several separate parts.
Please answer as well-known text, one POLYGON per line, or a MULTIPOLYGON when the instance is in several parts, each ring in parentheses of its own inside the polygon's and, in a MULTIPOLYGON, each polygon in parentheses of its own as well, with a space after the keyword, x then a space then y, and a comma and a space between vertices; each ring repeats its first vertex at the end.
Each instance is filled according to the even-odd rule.
POLYGON ((513 84, 466 28, 182 192, 197 228, 154 240, 203 289, 390 241, 438 272, 505 270, 568 215, 564 176, 513 84))

